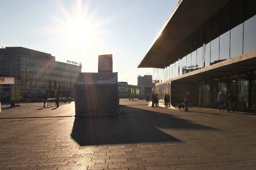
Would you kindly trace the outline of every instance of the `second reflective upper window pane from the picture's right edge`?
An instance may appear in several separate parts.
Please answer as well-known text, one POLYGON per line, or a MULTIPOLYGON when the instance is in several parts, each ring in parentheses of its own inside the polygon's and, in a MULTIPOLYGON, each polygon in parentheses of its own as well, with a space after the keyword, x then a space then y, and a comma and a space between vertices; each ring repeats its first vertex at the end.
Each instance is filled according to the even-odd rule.
POLYGON ((230 30, 230 58, 243 54, 243 24, 230 30))

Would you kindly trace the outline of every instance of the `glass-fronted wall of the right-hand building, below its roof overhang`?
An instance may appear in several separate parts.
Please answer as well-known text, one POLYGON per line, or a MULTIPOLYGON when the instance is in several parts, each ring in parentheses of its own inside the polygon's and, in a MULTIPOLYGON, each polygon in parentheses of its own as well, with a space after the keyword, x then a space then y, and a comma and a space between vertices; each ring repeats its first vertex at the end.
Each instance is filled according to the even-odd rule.
POLYGON ((175 62, 153 68, 153 80, 163 79, 156 84, 156 92, 162 99, 165 94, 175 94, 176 102, 183 102, 188 91, 193 96, 191 105, 216 108, 219 92, 223 90, 226 94, 227 105, 227 95, 232 91, 236 109, 255 111, 255 50, 256 1, 231 0, 169 53, 169 58, 178 56, 175 62), (239 65, 247 58, 254 62, 239 65), (231 69, 234 63, 237 67, 231 69), (222 73, 211 73, 214 69, 222 73))

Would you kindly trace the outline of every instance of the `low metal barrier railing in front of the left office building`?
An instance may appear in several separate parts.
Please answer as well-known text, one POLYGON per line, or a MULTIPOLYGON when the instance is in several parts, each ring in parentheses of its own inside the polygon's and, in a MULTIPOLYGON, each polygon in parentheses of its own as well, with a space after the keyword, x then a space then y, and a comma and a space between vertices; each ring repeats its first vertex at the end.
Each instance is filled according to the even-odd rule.
MULTIPOLYGON (((43 107, 44 102, 41 99, 27 99, 26 101, 14 101, 15 107, 43 107)), ((71 98, 60 98, 59 105, 71 103, 71 98)), ((45 107, 56 106, 55 99, 47 99, 45 107)), ((11 107, 11 102, 1 101, 1 108, 11 107)))

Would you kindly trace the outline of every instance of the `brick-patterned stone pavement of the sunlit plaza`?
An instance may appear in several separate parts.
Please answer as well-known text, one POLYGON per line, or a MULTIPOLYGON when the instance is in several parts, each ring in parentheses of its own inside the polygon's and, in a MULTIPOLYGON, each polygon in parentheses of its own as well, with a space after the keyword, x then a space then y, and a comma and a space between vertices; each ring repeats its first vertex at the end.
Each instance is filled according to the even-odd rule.
POLYGON ((2 109, 0 169, 256 169, 256 115, 151 107, 120 99, 120 116, 2 109))

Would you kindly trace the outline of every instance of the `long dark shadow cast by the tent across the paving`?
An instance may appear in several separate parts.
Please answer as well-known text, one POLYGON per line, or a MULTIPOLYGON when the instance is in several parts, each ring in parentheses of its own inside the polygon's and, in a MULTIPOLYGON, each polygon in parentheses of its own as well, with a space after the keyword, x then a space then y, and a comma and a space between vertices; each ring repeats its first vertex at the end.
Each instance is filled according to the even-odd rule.
POLYGON ((137 142, 182 142, 160 129, 218 131, 169 114, 120 106, 120 116, 75 117, 71 137, 80 144, 106 145, 137 142))

